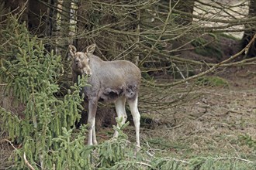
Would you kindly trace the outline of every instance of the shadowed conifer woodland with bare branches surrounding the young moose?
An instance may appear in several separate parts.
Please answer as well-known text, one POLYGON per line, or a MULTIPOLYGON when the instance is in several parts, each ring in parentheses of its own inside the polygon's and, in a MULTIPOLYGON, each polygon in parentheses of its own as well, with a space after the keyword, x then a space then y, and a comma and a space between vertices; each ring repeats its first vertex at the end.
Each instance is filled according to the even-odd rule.
POLYGON ((254 169, 255 13, 255 0, 2 0, 0 169, 254 169), (72 82, 68 46, 93 43, 140 68, 136 155, 129 107, 117 126, 99 103, 86 145, 87 77, 72 82))

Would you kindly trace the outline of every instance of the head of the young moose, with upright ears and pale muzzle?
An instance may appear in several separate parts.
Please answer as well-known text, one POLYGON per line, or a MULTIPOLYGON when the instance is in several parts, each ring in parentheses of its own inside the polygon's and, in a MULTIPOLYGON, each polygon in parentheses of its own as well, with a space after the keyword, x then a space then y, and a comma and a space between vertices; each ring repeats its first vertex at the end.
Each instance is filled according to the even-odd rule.
POLYGON ((95 44, 92 44, 86 48, 86 52, 77 52, 75 46, 69 45, 69 53, 73 58, 72 70, 84 75, 92 76, 92 70, 89 66, 90 56, 95 51, 95 44))

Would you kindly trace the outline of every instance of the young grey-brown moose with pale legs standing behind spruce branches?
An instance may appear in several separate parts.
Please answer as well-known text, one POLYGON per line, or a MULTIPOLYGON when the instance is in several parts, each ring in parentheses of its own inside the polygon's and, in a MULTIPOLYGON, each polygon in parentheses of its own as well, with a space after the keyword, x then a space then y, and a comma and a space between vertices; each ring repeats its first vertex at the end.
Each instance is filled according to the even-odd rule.
MULTIPOLYGON (((77 52, 77 49, 70 45, 69 53, 73 58, 72 76, 74 83, 78 81, 78 75, 87 75, 88 84, 82 93, 85 93, 85 100, 88 100, 88 145, 97 145, 95 134, 95 114, 98 102, 114 103, 116 114, 121 124, 127 119, 125 104, 129 104, 133 116, 133 123, 136 131, 136 145, 140 148, 140 113, 137 107, 138 90, 140 87, 140 69, 130 61, 116 60, 103 61, 93 55, 95 44, 88 46, 85 53, 77 52)), ((119 128, 119 124, 117 124, 119 128)), ((118 137, 115 131, 113 138, 118 137)))

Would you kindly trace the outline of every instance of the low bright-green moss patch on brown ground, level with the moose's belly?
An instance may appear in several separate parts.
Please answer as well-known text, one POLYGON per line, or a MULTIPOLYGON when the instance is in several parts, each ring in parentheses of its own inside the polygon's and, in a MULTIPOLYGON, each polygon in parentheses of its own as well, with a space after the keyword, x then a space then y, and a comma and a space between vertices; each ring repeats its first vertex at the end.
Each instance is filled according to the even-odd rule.
POLYGON ((220 76, 202 76, 199 77, 195 84, 200 86, 227 87, 229 83, 220 76))

